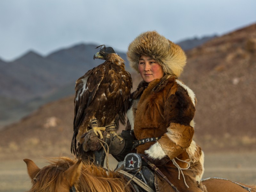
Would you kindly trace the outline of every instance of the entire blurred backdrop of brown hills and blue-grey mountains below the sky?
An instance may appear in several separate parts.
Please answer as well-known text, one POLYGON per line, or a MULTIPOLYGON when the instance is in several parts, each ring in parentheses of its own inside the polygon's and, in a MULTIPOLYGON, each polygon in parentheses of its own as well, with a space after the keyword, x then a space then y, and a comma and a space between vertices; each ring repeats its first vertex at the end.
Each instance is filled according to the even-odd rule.
MULTIPOLYGON (((204 151, 255 149, 256 24, 187 41, 189 47, 180 43, 188 56, 180 79, 197 96, 196 142, 204 151)), ((92 59, 96 46, 77 44, 45 57, 30 51, 0 61, 0 160, 70 154, 74 85, 102 63, 92 59)), ((136 88, 140 76, 128 62, 126 68, 136 88)))

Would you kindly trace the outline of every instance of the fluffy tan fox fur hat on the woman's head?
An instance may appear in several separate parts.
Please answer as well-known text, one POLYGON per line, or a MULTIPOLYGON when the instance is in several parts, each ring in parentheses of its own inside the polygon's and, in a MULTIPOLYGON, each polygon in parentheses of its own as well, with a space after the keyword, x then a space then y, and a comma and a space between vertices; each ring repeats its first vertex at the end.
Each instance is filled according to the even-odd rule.
POLYGON ((187 60, 185 52, 179 45, 174 44, 156 31, 140 34, 128 47, 127 58, 130 66, 138 73, 141 55, 155 59, 162 66, 164 74, 171 74, 177 77, 182 73, 187 60))

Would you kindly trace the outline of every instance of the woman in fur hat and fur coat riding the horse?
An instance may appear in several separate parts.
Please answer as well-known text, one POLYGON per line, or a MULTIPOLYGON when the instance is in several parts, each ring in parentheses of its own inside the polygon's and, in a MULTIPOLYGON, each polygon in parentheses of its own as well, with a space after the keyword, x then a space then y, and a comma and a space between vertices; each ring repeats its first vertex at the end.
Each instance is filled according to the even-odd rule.
MULTIPOLYGON (((204 153, 192 140, 195 94, 177 79, 186 65, 185 53, 156 31, 148 31, 132 41, 127 58, 143 79, 127 112, 126 129, 145 141, 136 147, 137 153, 146 155, 179 191, 206 191, 200 184, 204 153)), ((157 179, 157 191, 170 188, 157 179)))

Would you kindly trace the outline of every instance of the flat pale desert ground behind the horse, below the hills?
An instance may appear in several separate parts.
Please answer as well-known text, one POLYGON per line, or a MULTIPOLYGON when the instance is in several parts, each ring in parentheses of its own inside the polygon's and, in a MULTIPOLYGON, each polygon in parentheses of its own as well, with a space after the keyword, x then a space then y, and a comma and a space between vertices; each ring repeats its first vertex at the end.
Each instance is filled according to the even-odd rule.
MULTIPOLYGON (((28 157, 29 158, 29 157, 28 157)), ((45 164, 44 158, 32 159, 39 167, 45 164)), ((109 156, 110 167, 116 161, 109 156)), ((244 184, 256 184, 256 152, 245 153, 205 153, 205 172, 203 179, 219 177, 244 184)), ((0 191, 21 192, 30 188, 26 164, 22 159, 2 160, 0 162, 0 191)))

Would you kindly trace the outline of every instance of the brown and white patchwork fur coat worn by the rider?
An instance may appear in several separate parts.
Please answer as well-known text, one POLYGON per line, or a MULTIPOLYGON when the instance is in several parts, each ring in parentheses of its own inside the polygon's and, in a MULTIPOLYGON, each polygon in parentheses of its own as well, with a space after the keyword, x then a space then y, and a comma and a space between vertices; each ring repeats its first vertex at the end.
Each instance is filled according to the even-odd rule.
MULTIPOLYGON (((158 168, 171 182, 178 180, 175 160, 181 169, 185 169, 182 171, 189 187, 189 190, 185 187, 185 191, 204 191, 202 186, 201 190, 197 188, 204 173, 204 153, 192 140, 195 104, 195 94, 188 86, 176 76, 165 75, 149 84, 142 81, 132 93, 131 107, 127 112, 126 129, 134 130, 137 140, 161 137, 137 146, 137 153, 145 154, 160 165, 158 168)), ((174 183, 184 186, 182 180, 174 183)))

